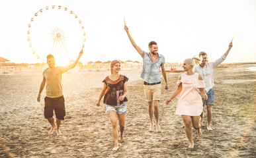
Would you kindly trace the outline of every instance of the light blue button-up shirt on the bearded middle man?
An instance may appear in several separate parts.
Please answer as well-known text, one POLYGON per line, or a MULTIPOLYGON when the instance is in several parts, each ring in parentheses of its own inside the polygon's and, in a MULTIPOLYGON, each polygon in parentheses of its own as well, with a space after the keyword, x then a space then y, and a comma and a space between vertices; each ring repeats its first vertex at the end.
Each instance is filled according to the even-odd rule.
POLYGON ((153 63, 150 53, 143 51, 143 69, 140 77, 150 84, 161 82, 160 68, 161 65, 165 64, 165 57, 158 54, 157 59, 153 63))

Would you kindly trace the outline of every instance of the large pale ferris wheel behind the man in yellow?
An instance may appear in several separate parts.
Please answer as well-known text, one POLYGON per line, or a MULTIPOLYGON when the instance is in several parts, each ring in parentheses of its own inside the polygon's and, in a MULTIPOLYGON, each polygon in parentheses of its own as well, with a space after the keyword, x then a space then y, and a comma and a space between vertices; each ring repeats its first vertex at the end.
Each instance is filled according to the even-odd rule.
POLYGON ((81 19, 66 7, 44 7, 32 16, 27 40, 37 59, 46 61, 54 55, 56 65, 66 65, 75 59, 85 42, 85 30, 81 19))

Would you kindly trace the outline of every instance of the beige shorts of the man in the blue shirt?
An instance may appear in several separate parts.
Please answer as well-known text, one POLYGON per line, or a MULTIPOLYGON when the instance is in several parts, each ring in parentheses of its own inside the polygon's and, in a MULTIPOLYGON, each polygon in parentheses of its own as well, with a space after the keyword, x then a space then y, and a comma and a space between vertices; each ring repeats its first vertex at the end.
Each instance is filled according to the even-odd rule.
POLYGON ((146 101, 160 100, 161 84, 143 85, 146 101))

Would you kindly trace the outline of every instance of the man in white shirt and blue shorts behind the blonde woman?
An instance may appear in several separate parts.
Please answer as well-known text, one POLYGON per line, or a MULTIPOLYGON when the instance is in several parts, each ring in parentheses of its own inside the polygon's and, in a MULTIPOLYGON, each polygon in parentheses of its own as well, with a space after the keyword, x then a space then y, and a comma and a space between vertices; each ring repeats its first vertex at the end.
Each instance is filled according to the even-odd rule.
MULTIPOLYGON (((230 49, 233 47, 233 43, 230 42, 230 45, 228 45, 228 50, 220 59, 217 59, 214 62, 208 62, 207 54, 204 51, 201 51, 199 53, 199 57, 202 57, 202 63, 200 65, 195 66, 194 72, 200 74, 202 78, 204 79, 204 83, 206 85, 206 93, 208 95, 208 100, 203 100, 203 106, 206 105, 207 108, 207 130, 212 130, 210 127, 211 121, 212 121, 212 105, 214 105, 214 90, 212 89, 214 86, 214 80, 213 80, 213 70, 216 66, 220 65, 226 57, 228 56, 228 53, 230 52, 230 49)), ((201 124, 204 119, 204 113, 201 114, 201 124)))

